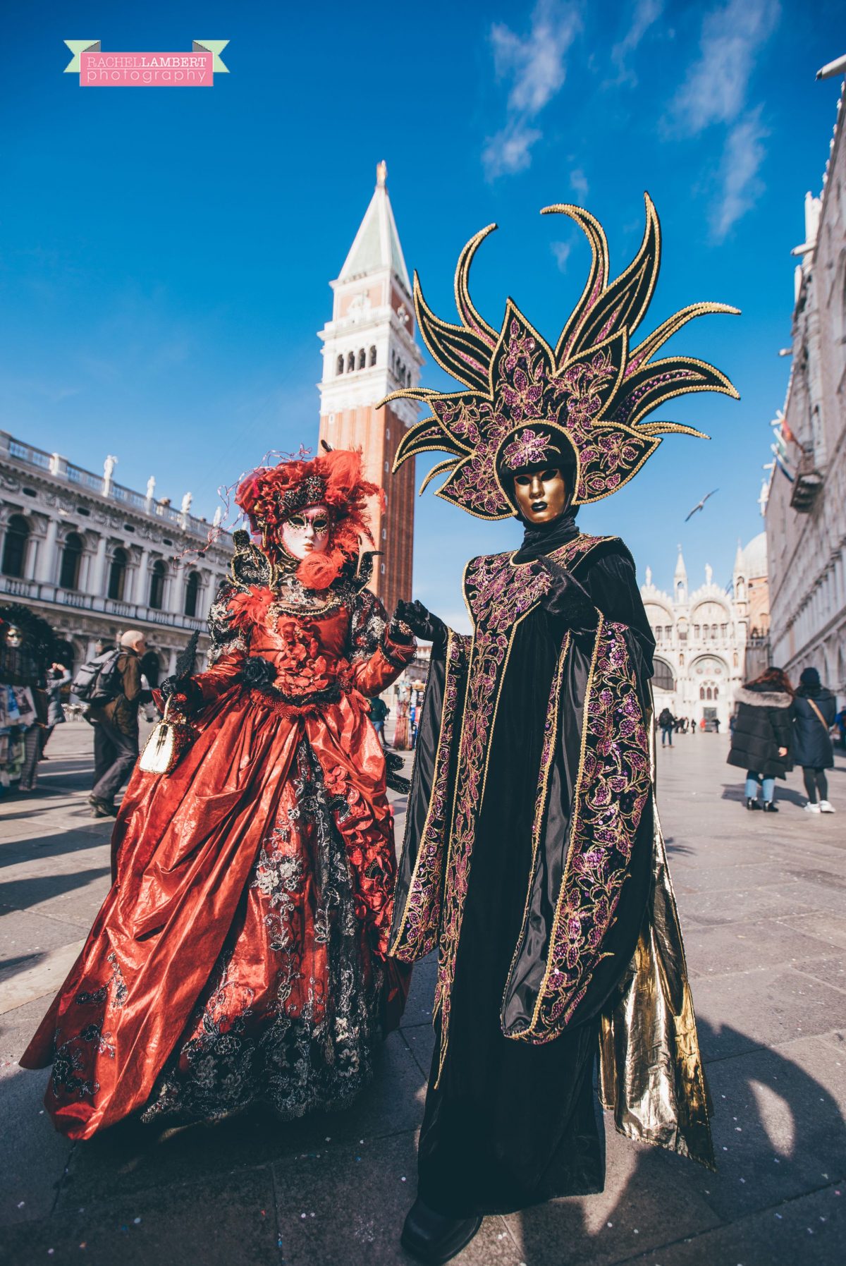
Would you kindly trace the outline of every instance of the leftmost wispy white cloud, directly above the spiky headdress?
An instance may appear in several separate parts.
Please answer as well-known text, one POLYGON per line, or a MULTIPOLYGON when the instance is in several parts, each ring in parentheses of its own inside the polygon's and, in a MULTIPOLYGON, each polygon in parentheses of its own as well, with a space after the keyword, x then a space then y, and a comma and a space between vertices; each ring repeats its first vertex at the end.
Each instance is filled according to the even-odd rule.
POLYGON ((492 27, 497 78, 510 80, 511 87, 506 124, 487 139, 482 152, 488 180, 531 163, 531 148, 541 138, 534 122, 564 85, 567 53, 580 27, 577 4, 565 0, 537 0, 526 35, 502 23, 492 27))

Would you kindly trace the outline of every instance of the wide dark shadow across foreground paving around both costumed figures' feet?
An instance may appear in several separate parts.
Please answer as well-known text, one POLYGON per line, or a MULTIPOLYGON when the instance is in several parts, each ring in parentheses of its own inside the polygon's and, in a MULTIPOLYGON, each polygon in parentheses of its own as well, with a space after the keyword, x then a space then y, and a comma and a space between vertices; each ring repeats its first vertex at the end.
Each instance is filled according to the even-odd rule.
MULTIPOLYGON (((746 1041, 728 1027, 701 1022, 699 1029, 706 1048, 732 1036, 746 1041)), ((20 1101, 21 1077, 38 1076, 0 1081, 4 1119, 20 1101)), ((632 1144, 607 1120, 602 1195, 555 1200, 505 1222, 489 1218, 458 1266, 513 1263, 511 1236, 526 1266, 641 1255, 661 1266, 787 1263, 809 1260, 809 1234, 816 1263, 838 1262, 843 1200, 836 1180, 846 1125, 832 1095, 800 1062, 761 1047, 713 1061, 708 1076, 717 1174, 632 1144)), ((57 1263, 83 1256, 102 1266, 169 1266, 201 1255, 209 1266, 236 1266, 278 1262, 283 1247, 285 1260, 302 1266, 341 1258, 398 1266, 407 1262, 397 1237, 415 1194, 414 1131, 424 1087, 393 1034, 374 1084, 346 1113, 285 1123, 252 1109, 216 1125, 169 1131, 129 1120, 75 1144, 67 1163, 48 1117, 16 1123, 28 1134, 30 1163, 49 1155, 54 1170, 49 1204, 42 1190, 44 1212, 27 1224, 15 1218, 18 1225, 4 1231, 9 1260, 29 1266, 52 1248, 57 1263)), ((28 1181, 44 1186, 43 1165, 24 1174, 11 1157, 4 1169, 20 1200, 28 1199, 28 1181)))

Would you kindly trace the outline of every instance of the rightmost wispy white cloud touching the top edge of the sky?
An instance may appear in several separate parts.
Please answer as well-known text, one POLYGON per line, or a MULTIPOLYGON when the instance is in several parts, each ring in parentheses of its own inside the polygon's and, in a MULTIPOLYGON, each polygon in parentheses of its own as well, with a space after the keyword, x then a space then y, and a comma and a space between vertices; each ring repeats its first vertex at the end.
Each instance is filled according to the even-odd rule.
POLYGON ((779 0, 728 0, 706 14, 699 57, 670 104, 670 130, 696 135, 739 116, 757 51, 775 29, 779 11, 779 0))

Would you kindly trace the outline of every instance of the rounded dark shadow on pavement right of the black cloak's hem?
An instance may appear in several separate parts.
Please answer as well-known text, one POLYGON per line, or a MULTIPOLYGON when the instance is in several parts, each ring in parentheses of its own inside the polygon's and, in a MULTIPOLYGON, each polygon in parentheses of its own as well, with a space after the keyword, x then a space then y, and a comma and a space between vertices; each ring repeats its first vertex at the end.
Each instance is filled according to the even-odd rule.
MULTIPOLYGON (((730 1025, 714 1029, 698 1020, 698 1028, 703 1050, 716 1039, 723 1046, 731 1038, 747 1041, 730 1025)), ((717 1172, 660 1148, 634 1146, 616 1134, 606 1115, 606 1191, 506 1219, 518 1224, 527 1266, 558 1261, 550 1252, 554 1244, 561 1252, 567 1246, 568 1266, 640 1260, 658 1246, 660 1253, 645 1260, 661 1266, 788 1263, 794 1239, 804 1250, 802 1260, 809 1260, 809 1233, 816 1237, 814 1262, 841 1260, 838 1182, 846 1174, 846 1122, 837 1101, 799 1063, 774 1050, 757 1047, 718 1060, 706 1072, 714 1100, 717 1172), (822 1200, 827 1212, 811 1218, 811 1199, 822 1200), (808 1227, 809 1220, 814 1225, 808 1227)))

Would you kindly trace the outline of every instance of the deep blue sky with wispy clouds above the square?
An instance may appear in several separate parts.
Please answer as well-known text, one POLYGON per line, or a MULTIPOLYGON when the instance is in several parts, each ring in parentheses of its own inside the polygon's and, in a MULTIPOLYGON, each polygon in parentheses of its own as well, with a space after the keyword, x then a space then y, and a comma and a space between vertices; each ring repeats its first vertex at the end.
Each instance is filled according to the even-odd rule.
MULTIPOLYGON (((692 581, 706 562, 730 579, 737 537, 761 528, 789 368, 776 356, 790 342, 789 252, 840 90, 814 72, 846 52, 838 4, 34 0, 4 33, 0 427, 92 470, 115 453, 121 482, 143 489, 154 473, 161 495, 191 489, 210 518, 219 484, 269 448, 315 443, 315 332, 378 160, 435 310, 453 319, 458 252, 496 220, 477 305, 498 325, 512 295, 553 339, 588 251, 537 211, 587 206, 618 272, 646 189, 664 235, 647 325, 699 299, 741 308, 669 344, 713 361, 741 400, 674 401, 671 417, 711 442, 669 437, 580 523, 622 536, 658 584, 677 542, 692 581), (230 75, 211 91, 91 92, 62 75, 64 38, 178 51, 205 37, 230 41, 230 75)), ((429 356, 424 381, 446 381, 429 356)), ((416 523, 416 595, 448 615, 467 557, 518 538, 431 491, 416 523)))

